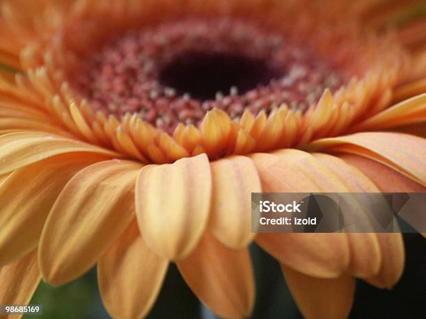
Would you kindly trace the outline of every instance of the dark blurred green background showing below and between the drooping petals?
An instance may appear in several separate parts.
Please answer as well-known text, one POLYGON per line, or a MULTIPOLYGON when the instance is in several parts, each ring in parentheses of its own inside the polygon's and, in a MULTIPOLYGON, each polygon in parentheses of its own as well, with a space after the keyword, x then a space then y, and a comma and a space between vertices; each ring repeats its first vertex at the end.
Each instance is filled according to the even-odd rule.
MULTIPOLYGON (((358 281, 351 319, 426 318, 426 240, 418 234, 404 234, 404 243, 407 262, 399 284, 393 291, 387 291, 358 281)), ((278 263, 255 245, 251 247, 251 254, 257 285, 253 318, 303 318, 285 285, 278 263)), ((100 300, 95 269, 66 286, 54 288, 40 284, 31 303, 42 304, 43 314, 38 317, 26 316, 26 319, 109 318, 100 300)), ((148 318, 216 317, 198 302, 172 265, 148 318)))

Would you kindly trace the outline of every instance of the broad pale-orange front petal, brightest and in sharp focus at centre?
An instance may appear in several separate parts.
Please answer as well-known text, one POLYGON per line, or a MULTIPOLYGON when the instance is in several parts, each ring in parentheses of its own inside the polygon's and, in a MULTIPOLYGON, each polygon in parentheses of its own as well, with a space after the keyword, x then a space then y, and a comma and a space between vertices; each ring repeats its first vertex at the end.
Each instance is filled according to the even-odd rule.
POLYGON ((136 215, 148 246, 168 259, 187 256, 207 225, 211 194, 205 154, 143 167, 136 181, 136 215))

